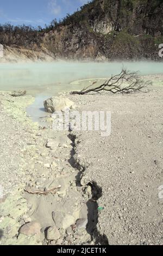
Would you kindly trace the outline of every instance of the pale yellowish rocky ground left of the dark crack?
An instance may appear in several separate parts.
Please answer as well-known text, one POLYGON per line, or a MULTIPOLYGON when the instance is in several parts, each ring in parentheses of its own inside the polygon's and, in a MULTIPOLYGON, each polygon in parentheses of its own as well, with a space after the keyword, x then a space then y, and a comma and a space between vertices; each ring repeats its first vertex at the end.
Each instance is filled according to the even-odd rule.
MULTIPOLYGON (((18 168, 15 167, 12 170, 12 173, 15 173, 13 181, 10 182, 14 182, 16 175, 17 188, 12 187, 12 191, 8 191, 10 193, 7 193, 0 202, 1 245, 53 245, 55 243, 70 245, 73 243, 82 244, 83 241, 91 240, 91 236, 83 228, 86 225, 87 210, 86 204, 83 203, 83 197, 76 187, 78 170, 71 163, 73 141, 69 138, 69 132, 42 129, 42 127, 32 123, 24 112, 24 106, 27 102, 29 103, 29 96, 13 98, 4 93, 2 97, 3 107, 1 110, 5 120, 8 122, 9 115, 17 127, 17 133, 22 130, 22 135, 26 139, 21 145, 22 148, 20 145, 15 147, 15 143, 12 144, 10 141, 11 150, 22 152, 20 158, 23 159, 23 163, 17 163, 18 168), (6 101, 5 104, 4 101, 6 101), (23 101, 23 106, 20 106, 18 101, 23 101), (12 111, 15 114, 10 115, 12 112, 10 108, 13 104, 15 107, 12 108, 12 111), (18 184, 19 179, 21 179, 20 184, 18 184), (47 196, 24 192, 24 189, 27 191, 48 191, 55 187, 60 187, 59 191, 55 194, 49 193, 47 196), (21 206, 18 207, 18 205, 21 206), (55 216, 53 212, 55 212, 55 216), (81 224, 82 227, 79 225, 77 230, 70 231, 71 225, 76 223, 78 219, 84 220, 84 223, 81 224), (39 223, 41 232, 39 231, 35 235, 21 233, 21 227, 28 222, 39 223), (54 237, 47 239, 46 230, 48 227, 57 227, 59 230, 57 238, 54 235, 54 237), (10 229, 12 232, 8 231, 10 229)), ((9 131, 6 132, 9 133, 9 131)), ((14 140, 14 132, 12 129, 10 131, 12 134, 8 134, 10 140, 14 140)), ((20 139, 22 140, 22 136, 20 139)), ((5 150, 4 147, 3 150, 5 150)), ((9 153, 8 157, 12 158, 9 153)), ((5 161, 9 162, 10 160, 5 159, 5 161)), ((10 169, 11 166, 8 168, 10 169)), ((3 172, 8 172, 9 169, 3 169, 3 172)), ((3 181, 7 186, 9 176, 3 181)), ((2 184, 3 187, 4 184, 2 184)))

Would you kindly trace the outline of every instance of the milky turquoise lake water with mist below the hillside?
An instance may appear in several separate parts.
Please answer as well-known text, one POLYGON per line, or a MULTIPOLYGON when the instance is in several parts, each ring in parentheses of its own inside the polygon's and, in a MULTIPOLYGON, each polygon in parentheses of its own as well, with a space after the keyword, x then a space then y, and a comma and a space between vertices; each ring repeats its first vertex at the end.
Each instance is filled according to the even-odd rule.
POLYGON ((33 95, 56 94, 62 90, 79 89, 70 84, 75 80, 118 74, 122 66, 132 71, 139 70, 141 75, 163 73, 163 63, 158 62, 1 63, 0 89, 26 89, 33 95))

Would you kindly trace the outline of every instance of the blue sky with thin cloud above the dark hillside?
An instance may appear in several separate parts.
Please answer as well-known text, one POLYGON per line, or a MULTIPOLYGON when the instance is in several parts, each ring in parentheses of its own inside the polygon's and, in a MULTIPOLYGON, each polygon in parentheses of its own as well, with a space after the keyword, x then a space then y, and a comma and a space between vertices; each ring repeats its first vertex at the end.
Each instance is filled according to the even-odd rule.
POLYGON ((53 19, 61 19, 73 13, 87 0, 1 0, 0 23, 32 26, 48 25, 53 19))

